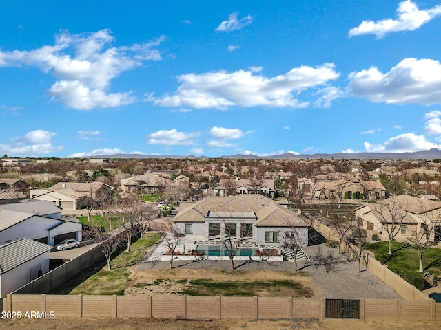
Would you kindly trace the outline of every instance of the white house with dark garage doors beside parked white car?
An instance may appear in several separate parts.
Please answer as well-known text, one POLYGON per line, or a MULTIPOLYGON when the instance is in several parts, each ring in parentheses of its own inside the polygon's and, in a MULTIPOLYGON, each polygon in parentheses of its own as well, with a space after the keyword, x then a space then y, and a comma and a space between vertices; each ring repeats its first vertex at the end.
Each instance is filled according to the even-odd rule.
POLYGON ((55 219, 15 210, 0 210, 0 244, 17 239, 32 239, 51 246, 64 239, 81 241, 82 225, 78 219, 55 219))

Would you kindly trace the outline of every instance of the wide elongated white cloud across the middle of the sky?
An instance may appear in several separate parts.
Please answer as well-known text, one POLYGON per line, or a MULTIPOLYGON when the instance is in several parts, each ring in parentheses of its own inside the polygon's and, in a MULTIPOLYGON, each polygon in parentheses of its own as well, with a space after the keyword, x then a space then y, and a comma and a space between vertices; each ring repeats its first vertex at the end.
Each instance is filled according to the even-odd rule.
MULTIPOLYGON (((184 74, 178 77, 181 85, 174 95, 154 98, 146 94, 145 100, 153 101, 162 107, 193 107, 196 109, 227 109, 241 107, 307 107, 309 102, 297 98, 302 91, 325 85, 329 80, 338 78, 334 64, 325 63, 318 67, 302 65, 286 74, 267 78, 252 71, 239 70, 208 72, 205 74, 184 74)), ((329 93, 322 89, 318 93, 329 93)), ((334 90, 333 90, 334 91, 334 90)), ((335 91, 334 91, 335 92, 335 91)), ((326 99, 334 99, 324 96, 326 99)), ((329 102, 321 102, 327 106, 329 102)))

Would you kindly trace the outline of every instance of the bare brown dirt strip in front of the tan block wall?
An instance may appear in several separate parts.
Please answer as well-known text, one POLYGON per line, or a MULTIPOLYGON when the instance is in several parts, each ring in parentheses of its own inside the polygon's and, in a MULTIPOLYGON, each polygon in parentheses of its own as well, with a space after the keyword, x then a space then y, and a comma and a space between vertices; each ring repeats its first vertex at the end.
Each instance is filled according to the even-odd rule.
POLYGON ((440 329, 439 322, 361 322, 359 320, 156 320, 156 319, 74 319, 56 318, 54 320, 2 320, 0 329, 121 329, 121 330, 238 330, 238 329, 386 329, 386 330, 435 330, 440 329))

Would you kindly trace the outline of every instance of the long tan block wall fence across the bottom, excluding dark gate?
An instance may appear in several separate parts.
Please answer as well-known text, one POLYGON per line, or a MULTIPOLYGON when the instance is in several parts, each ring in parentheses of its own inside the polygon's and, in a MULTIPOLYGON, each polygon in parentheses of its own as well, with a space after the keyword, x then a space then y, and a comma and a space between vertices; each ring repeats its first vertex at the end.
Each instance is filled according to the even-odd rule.
MULTIPOLYGON (((325 318, 325 298, 193 296, 57 296, 8 294, 3 311, 45 311, 72 318, 325 318)), ((360 320, 441 320, 441 303, 360 299, 360 320)))

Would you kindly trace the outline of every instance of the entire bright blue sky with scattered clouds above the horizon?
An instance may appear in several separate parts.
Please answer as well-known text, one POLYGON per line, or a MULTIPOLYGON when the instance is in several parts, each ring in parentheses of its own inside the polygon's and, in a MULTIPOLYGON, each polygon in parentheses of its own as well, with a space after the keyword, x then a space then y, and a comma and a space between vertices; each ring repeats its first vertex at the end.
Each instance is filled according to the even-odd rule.
POLYGON ((0 154, 441 148, 438 1, 1 1, 0 154))

